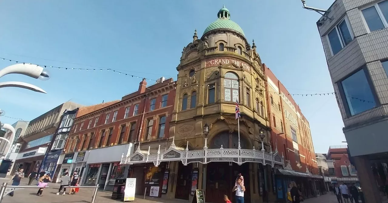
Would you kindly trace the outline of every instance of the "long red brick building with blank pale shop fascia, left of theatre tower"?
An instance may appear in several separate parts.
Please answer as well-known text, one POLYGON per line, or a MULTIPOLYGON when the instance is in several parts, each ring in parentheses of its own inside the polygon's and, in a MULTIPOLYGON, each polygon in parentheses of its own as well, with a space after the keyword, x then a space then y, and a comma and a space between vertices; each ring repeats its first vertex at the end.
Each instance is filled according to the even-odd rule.
POLYGON ((73 160, 82 154, 87 171, 82 184, 98 183, 104 189, 113 189, 115 179, 128 176, 129 166, 119 165, 121 155, 132 153, 139 141, 142 150, 149 148, 156 152, 159 145, 168 148, 175 85, 169 78, 147 87, 143 79, 139 89, 123 96, 121 101, 91 113, 77 114, 65 153, 76 153, 73 160))

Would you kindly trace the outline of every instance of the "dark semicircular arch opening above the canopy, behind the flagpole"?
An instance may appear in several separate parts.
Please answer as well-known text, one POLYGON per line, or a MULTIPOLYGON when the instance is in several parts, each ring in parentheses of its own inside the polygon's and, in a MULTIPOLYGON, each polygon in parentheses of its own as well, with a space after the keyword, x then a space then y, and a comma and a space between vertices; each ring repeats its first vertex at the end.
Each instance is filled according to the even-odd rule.
MULTIPOLYGON (((209 148, 237 148, 238 147, 238 132, 222 131, 213 136, 210 140, 209 148)), ((249 141, 240 134, 240 145, 242 149, 248 149, 251 145, 249 141)))

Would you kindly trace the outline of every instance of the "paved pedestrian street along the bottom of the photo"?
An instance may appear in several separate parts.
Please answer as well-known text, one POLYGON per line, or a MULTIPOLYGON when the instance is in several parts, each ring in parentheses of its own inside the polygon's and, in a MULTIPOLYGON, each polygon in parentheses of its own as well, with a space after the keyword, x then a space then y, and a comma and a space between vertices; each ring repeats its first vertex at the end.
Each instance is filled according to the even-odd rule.
MULTIPOLYGON (((0 183, 8 181, 9 179, 0 178, 0 183)), ((21 186, 26 186, 28 179, 22 180, 21 186)), ((36 181, 33 182, 35 184, 36 181)), ((49 188, 43 190, 43 196, 36 196, 38 189, 27 188, 15 191, 14 196, 5 196, 2 203, 87 203, 92 200, 93 189, 81 188, 80 192, 74 195, 65 196, 56 195, 59 189, 59 184, 49 183, 49 188)), ((120 201, 111 200, 112 192, 99 191, 95 203, 118 203, 120 201)), ((135 203, 186 203, 185 200, 162 200, 160 198, 146 197, 146 200, 142 199, 142 196, 135 198, 135 203)), ((337 199, 334 194, 326 194, 319 198, 311 198, 304 201, 305 203, 337 203, 337 199)))

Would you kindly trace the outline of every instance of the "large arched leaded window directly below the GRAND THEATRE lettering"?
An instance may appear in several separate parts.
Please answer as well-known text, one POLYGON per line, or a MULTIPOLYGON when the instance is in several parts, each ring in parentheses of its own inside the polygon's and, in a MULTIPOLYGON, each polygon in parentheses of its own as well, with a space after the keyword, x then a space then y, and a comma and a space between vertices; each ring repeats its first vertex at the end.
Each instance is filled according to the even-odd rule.
POLYGON ((239 100, 239 78, 235 73, 227 72, 223 79, 225 101, 239 100))

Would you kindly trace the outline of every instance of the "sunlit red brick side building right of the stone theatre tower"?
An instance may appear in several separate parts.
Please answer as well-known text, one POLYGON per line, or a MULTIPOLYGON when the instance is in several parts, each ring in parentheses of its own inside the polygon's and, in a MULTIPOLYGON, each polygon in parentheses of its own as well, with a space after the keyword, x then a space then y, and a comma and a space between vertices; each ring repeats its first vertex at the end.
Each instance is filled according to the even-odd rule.
POLYGON ((302 188, 303 196, 314 196, 315 190, 320 190, 321 182, 322 191, 324 187, 322 177, 318 176, 310 125, 286 87, 265 64, 263 66, 267 77, 265 88, 272 150, 277 150, 285 159, 285 171, 277 171, 279 181, 284 181, 285 188, 286 183, 295 181, 302 188), (290 176, 287 171, 297 173, 290 176))

